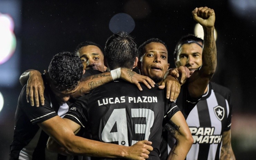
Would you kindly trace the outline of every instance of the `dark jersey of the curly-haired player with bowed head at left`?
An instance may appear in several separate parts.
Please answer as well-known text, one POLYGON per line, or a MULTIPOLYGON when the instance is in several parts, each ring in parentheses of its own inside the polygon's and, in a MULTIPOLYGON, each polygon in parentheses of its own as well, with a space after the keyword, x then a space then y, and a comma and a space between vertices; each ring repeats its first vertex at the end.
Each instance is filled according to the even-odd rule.
MULTIPOLYGON (((43 77, 44 78, 44 77, 43 77)), ((32 107, 26 100, 26 85, 23 87, 15 114, 13 141, 10 145, 10 160, 58 160, 65 156, 47 151, 48 135, 37 123, 54 116, 64 116, 69 106, 60 106, 48 84, 45 83, 44 106, 32 107)))

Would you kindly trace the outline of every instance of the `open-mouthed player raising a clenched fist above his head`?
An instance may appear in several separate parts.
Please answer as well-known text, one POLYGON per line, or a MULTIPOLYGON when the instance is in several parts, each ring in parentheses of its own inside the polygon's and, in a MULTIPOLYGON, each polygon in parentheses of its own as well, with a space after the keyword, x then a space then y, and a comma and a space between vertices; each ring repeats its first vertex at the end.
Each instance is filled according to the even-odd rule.
MULTIPOLYGON (((203 47, 204 56, 202 57, 201 67, 187 79, 187 82, 184 85, 182 85, 180 95, 175 101, 181 108, 185 118, 187 118, 190 111, 202 96, 217 65, 217 52, 213 32, 215 22, 214 11, 207 7, 200 7, 195 8, 195 10, 192 11, 192 15, 194 19, 203 26, 205 44, 203 47)), ((168 53, 165 43, 158 39, 150 39, 139 47, 139 51, 141 54, 141 62, 139 63, 141 73, 149 76, 154 81, 161 81, 169 67, 167 62, 168 53)), ((177 139, 177 145, 179 145, 179 142, 183 142, 183 140, 180 139, 181 136, 177 135, 175 130, 173 130, 172 135, 177 139)), ((161 147, 161 159, 166 160, 168 153, 170 152, 170 148, 167 148, 167 132, 163 132, 163 136, 164 140, 161 147)), ((175 147, 172 147, 172 150, 170 156, 172 157, 173 155, 175 157, 177 155, 177 148, 175 149, 175 147)))

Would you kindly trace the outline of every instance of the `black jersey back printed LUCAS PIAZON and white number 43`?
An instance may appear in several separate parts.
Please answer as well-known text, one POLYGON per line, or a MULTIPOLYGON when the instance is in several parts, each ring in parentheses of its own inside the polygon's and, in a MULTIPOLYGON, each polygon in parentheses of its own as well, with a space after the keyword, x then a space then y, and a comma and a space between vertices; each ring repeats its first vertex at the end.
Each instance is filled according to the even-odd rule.
POLYGON ((99 86, 77 99, 64 118, 84 127, 93 140, 123 146, 152 141, 154 150, 149 159, 159 160, 164 116, 172 117, 180 109, 157 85, 152 89, 141 87, 143 91, 119 79, 99 86))

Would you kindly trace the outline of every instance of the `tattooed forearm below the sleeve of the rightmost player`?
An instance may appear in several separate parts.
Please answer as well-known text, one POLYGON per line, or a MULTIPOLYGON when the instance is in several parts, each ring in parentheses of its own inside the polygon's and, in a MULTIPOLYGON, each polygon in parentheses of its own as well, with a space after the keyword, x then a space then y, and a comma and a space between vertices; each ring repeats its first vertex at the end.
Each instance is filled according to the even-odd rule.
POLYGON ((223 132, 220 160, 236 160, 231 147, 231 130, 223 132))

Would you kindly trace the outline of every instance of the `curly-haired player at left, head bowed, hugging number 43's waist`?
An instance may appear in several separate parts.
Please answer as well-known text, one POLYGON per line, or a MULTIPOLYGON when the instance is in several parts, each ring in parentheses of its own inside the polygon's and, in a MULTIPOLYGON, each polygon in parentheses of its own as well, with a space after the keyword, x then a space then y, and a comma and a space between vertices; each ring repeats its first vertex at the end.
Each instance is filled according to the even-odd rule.
POLYGON ((69 109, 67 101, 78 89, 83 72, 78 56, 62 52, 53 57, 48 71, 42 75, 45 85, 44 106, 31 107, 26 102, 26 86, 22 89, 15 114, 10 160, 64 159, 46 149, 49 136, 61 144, 67 153, 137 160, 148 158, 147 154, 153 149, 148 146, 151 144, 149 141, 140 141, 131 147, 92 141, 75 136, 60 117, 69 109))

